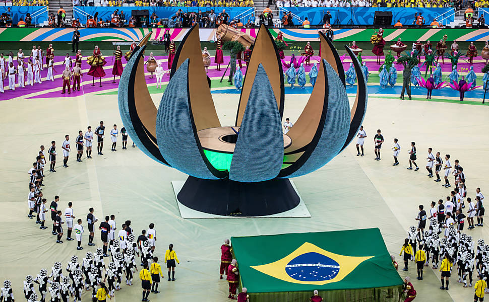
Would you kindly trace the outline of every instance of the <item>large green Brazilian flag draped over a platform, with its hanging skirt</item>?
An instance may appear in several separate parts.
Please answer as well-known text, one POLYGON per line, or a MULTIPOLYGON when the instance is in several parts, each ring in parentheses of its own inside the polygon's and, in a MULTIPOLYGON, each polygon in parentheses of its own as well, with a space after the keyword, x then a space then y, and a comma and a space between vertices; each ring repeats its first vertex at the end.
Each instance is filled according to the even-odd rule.
MULTIPOLYGON (((232 237, 240 286, 254 302, 398 301, 403 280, 379 229, 232 237)), ((250 299, 251 300, 251 299, 250 299)))

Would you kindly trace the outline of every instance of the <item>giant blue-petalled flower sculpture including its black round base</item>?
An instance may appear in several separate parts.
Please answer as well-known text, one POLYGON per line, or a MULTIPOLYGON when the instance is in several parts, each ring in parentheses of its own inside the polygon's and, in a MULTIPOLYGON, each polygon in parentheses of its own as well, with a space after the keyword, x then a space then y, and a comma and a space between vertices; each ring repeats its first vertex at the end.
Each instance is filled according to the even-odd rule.
POLYGON ((290 177, 311 173, 338 155, 356 135, 367 92, 349 48, 358 89, 351 108, 341 60, 320 33, 316 86, 294 126, 282 133, 283 70, 275 43, 262 26, 244 78, 234 125, 222 126, 201 55, 198 26, 181 41, 157 109, 144 79, 148 34, 135 48, 118 90, 119 111, 138 147, 155 161, 189 176, 182 204, 218 215, 261 216, 294 208, 290 177))

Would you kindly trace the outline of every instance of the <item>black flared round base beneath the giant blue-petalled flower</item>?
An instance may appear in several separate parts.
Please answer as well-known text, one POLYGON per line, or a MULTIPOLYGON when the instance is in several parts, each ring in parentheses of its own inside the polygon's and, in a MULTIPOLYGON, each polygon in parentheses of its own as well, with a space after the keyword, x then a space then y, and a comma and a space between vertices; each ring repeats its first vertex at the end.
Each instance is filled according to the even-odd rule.
POLYGON ((178 201, 196 211, 223 216, 266 216, 296 207, 300 198, 288 179, 255 183, 189 176, 178 201))

